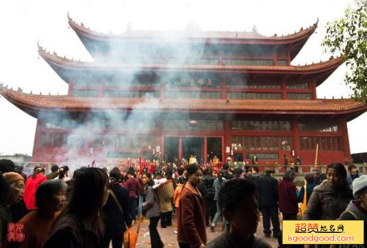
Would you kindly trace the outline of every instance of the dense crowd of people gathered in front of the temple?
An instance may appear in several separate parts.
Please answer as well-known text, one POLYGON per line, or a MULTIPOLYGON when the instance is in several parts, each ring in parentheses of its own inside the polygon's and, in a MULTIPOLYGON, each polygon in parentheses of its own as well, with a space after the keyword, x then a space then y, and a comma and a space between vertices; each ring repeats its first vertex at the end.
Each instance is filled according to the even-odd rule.
MULTIPOLYGON (((367 176, 356 167, 333 163, 325 174, 315 169, 296 185, 288 169, 231 168, 217 173, 196 163, 179 167, 80 167, 68 176, 67 166, 51 173, 34 167, 26 176, 12 161, 0 160, 0 247, 123 247, 123 233, 144 216, 149 219, 151 247, 164 247, 157 226, 173 225, 179 247, 271 247, 255 236, 262 214, 264 236, 281 240, 283 220, 367 220, 367 176), (162 198, 157 189, 173 184, 162 198), (300 211, 304 204, 304 211, 300 211), (221 221, 220 221, 221 220, 221 221), (207 231, 220 234, 208 242, 207 231), (42 227, 42 228, 40 228, 42 227), (2 245, 2 246, 1 246, 2 245)), ((366 234, 365 234, 365 240, 366 234)), ((307 245, 305 246, 307 247, 307 245)))

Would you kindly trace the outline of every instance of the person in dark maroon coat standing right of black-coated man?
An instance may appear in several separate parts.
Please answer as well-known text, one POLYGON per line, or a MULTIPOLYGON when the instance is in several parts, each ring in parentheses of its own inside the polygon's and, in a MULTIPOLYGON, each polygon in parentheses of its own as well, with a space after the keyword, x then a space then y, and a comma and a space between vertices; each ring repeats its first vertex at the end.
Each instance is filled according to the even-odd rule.
POLYGON ((296 184, 293 180, 296 173, 292 170, 286 171, 283 180, 279 183, 279 210, 283 220, 296 220, 299 212, 296 184))

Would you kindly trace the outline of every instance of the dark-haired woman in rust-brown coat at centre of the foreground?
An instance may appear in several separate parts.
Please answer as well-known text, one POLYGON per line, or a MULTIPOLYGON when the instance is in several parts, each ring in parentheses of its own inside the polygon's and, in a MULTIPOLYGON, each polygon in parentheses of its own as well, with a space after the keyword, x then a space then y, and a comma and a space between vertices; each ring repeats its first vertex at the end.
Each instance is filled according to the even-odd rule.
POLYGON ((189 165, 187 174, 188 182, 184 184, 179 200, 177 241, 180 248, 202 248, 207 243, 205 208, 197 186, 203 178, 203 172, 198 165, 189 165))

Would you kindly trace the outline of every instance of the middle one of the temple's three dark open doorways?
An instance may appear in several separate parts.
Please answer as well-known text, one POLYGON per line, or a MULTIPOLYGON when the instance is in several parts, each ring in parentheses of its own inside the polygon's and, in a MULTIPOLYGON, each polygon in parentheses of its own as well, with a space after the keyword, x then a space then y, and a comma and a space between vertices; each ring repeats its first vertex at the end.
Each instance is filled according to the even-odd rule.
POLYGON ((182 137, 182 157, 189 161, 190 156, 197 156, 197 162, 203 159, 204 138, 182 137))

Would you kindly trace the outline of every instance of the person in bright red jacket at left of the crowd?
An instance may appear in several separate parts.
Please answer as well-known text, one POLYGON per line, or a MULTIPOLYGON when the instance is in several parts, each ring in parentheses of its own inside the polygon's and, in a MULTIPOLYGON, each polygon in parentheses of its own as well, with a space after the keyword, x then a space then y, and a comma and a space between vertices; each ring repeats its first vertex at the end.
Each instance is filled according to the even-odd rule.
POLYGON ((32 176, 25 181, 24 202, 28 209, 36 208, 36 191, 42 182, 45 182, 45 169, 37 165, 34 167, 32 176))

